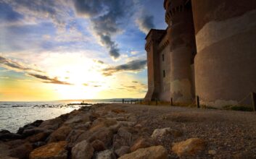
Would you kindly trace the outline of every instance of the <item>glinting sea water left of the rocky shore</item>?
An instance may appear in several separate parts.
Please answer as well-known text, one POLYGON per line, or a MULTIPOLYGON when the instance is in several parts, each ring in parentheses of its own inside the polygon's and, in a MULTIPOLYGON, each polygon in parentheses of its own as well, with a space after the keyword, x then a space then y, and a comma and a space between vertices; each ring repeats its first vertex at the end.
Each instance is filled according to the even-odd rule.
MULTIPOLYGON (((63 100, 51 102, 0 102, 0 131, 5 129, 16 133, 25 124, 36 120, 54 119, 65 113, 79 109, 82 100, 63 100), (71 105, 70 105, 71 104, 71 105)), ((117 100, 92 100, 88 103, 113 103, 117 100)), ((86 102, 87 103, 87 102, 86 102)))

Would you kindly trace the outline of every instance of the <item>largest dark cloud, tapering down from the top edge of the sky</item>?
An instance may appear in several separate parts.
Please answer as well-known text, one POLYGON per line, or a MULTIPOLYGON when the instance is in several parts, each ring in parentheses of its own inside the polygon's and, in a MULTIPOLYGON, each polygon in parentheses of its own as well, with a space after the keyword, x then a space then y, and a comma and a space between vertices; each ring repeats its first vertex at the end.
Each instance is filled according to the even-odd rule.
POLYGON ((112 36, 121 32, 120 25, 125 17, 131 16, 132 6, 133 1, 126 0, 75 0, 76 12, 91 20, 94 32, 114 59, 120 56, 120 51, 112 36))

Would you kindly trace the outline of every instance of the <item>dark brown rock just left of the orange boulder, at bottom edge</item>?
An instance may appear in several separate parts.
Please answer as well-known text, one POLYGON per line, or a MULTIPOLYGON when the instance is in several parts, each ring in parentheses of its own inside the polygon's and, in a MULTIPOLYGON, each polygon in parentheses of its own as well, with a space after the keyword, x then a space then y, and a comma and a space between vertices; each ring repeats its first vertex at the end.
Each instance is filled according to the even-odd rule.
POLYGON ((25 159, 25 158, 28 158, 32 150, 33 150, 33 146, 29 142, 26 142, 25 144, 10 150, 9 156, 13 158, 25 159))

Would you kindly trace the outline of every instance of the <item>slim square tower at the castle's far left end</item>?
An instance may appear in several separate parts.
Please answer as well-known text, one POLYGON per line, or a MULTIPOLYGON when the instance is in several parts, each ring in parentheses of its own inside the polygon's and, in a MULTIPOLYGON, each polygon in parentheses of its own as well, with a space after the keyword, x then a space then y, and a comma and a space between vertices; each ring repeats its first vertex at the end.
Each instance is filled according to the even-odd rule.
POLYGON ((146 35, 146 57, 148 72, 148 92, 145 100, 159 99, 160 93, 160 53, 159 43, 165 30, 150 30, 146 35))

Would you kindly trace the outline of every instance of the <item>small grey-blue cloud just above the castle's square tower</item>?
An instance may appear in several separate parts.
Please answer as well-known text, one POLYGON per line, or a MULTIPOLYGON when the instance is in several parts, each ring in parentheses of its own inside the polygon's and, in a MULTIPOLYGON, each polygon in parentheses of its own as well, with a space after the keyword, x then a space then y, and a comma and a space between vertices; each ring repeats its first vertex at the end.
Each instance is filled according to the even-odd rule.
POLYGON ((149 33, 149 30, 154 28, 154 17, 152 15, 141 15, 137 20, 136 23, 139 26, 139 30, 143 33, 149 33))

